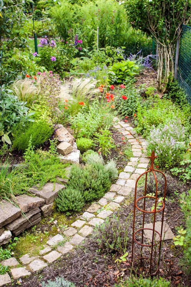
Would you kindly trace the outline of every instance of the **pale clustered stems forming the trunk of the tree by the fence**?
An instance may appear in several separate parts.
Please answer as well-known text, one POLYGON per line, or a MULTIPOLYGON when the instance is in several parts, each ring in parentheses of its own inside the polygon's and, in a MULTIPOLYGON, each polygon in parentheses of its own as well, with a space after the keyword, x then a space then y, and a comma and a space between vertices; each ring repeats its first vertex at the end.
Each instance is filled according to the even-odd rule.
POLYGON ((158 70, 157 83, 158 91, 163 94, 168 90, 168 85, 172 83, 174 77, 174 55, 175 47, 173 44, 159 44, 158 48, 158 70))

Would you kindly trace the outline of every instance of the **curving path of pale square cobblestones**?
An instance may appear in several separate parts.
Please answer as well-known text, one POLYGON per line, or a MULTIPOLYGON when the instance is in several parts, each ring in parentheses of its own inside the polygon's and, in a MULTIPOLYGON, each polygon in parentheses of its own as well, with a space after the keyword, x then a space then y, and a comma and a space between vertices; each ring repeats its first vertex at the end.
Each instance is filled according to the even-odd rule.
MULTIPOLYGON (((133 127, 128 123, 115 118, 114 128, 121 132, 132 146, 133 157, 130 158, 123 172, 120 172, 115 184, 112 184, 107 192, 98 202, 93 203, 69 228, 61 234, 53 236, 44 245, 44 249, 39 251, 39 256, 29 257, 25 254, 19 258, 19 263, 15 258, 6 259, 1 262, 3 265, 13 267, 10 273, 14 280, 29 276, 31 272, 36 272, 47 266, 47 263, 55 262, 63 254, 69 253, 76 245, 83 242, 85 237, 93 233, 93 228, 104 222, 115 210, 120 208, 120 204, 133 192, 135 181, 138 176, 147 169, 149 159, 146 155, 146 142, 142 136, 137 135, 133 127), (67 241, 66 239, 67 238, 67 241), (22 265, 21 265, 22 264, 22 265), (17 267, 17 265, 21 267, 17 267)), ((10 276, 6 273, 0 275, 0 286, 11 283, 10 276)))

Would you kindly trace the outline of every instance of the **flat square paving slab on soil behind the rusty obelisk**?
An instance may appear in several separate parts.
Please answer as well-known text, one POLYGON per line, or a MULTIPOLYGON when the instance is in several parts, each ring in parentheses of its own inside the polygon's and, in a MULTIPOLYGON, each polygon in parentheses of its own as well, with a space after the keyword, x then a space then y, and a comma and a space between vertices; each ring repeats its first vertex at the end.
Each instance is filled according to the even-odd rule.
MULTIPOLYGON (((161 221, 155 222, 155 230, 161 233, 161 221)), ((144 225, 144 228, 153 228, 153 223, 148 223, 144 225)), ((167 222, 163 222, 162 228, 162 240, 169 240, 172 239, 175 235, 173 234, 172 230, 170 229, 167 222)), ((152 241, 153 231, 152 230, 144 230, 145 236, 152 241)), ((159 235, 155 233, 155 240, 158 241, 159 235)))

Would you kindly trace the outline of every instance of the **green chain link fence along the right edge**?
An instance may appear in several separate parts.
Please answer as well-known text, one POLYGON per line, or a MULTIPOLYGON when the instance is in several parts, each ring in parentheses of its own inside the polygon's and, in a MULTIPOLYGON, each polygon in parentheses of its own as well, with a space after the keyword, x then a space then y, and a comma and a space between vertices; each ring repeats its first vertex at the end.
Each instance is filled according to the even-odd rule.
POLYGON ((191 103, 191 27, 186 25, 183 25, 180 37, 177 80, 191 103))

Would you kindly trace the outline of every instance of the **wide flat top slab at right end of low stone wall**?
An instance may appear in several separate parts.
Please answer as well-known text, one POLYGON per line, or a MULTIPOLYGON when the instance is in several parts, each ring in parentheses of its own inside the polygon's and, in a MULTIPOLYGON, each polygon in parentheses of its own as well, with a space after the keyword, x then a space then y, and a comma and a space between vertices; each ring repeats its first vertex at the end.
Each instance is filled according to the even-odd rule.
POLYGON ((44 199, 45 204, 50 204, 57 197, 58 191, 63 188, 65 188, 63 184, 48 182, 42 187, 42 189, 40 189, 39 186, 33 186, 29 189, 29 191, 39 198, 44 199))

